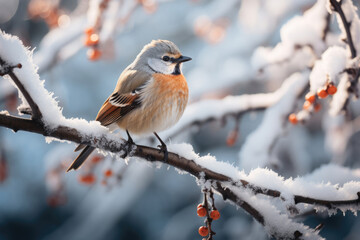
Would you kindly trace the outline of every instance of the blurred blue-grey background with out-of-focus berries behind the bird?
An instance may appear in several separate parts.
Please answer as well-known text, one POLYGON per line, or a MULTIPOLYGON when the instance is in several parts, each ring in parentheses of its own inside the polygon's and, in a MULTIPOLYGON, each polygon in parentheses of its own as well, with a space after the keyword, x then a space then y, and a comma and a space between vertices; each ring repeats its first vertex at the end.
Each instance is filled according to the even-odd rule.
MULTIPOLYGON (((275 91, 287 76, 260 77, 252 55, 259 46, 274 47, 281 26, 315 2, 0 0, 0 28, 33 49, 41 79, 65 117, 92 120, 122 70, 153 39, 173 41, 193 58, 183 68, 189 104, 275 91)), ((331 24, 336 32, 336 22, 331 24)), ((18 93, 0 80, 0 110, 16 114, 18 93)), ((262 167, 285 177, 305 175, 329 162, 358 167, 359 134, 351 134, 334 157, 326 145, 324 115, 280 136, 271 156, 277 164, 262 167)), ((201 155, 210 153, 241 167, 239 151, 262 117, 263 111, 257 111, 244 114, 239 126, 233 118, 206 123, 171 142, 191 143, 201 155), (235 143, 229 138, 234 130, 235 143)), ((203 219, 196 206, 202 195, 192 176, 101 154, 80 171, 65 174, 75 147, 0 128, 0 239, 201 239, 197 229, 203 219)), ((222 217, 213 224, 215 239, 267 239, 263 227, 241 209, 216 201, 222 217)), ((311 227, 324 223, 321 235, 327 239, 356 239, 360 229, 352 214, 304 218, 311 227)))

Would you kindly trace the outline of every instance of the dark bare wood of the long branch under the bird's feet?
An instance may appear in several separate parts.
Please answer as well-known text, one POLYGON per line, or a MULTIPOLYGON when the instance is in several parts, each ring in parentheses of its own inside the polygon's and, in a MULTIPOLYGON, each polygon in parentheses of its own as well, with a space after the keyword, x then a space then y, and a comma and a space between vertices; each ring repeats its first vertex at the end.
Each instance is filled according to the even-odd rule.
MULTIPOLYGON (((95 137, 91 135, 84 135, 80 133, 77 129, 67 127, 67 126, 58 126, 55 129, 47 130, 37 121, 31 119, 24 119, 15 116, 0 114, 0 126, 10 128, 14 131, 28 131, 44 136, 50 136, 61 140, 68 140, 75 143, 82 143, 92 145, 94 147, 107 150, 113 153, 119 153, 121 151, 126 152, 125 143, 123 139, 120 139, 119 142, 114 142, 109 140, 106 136, 95 137)), ((274 189, 263 188, 255 184, 249 183, 246 180, 240 179, 238 181, 233 180, 232 178, 214 172, 210 169, 207 169, 194 160, 187 159, 176 153, 169 152, 168 160, 165 162, 163 153, 156 148, 143 146, 143 145, 134 145, 134 149, 131 152, 131 156, 140 157, 149 162, 161 162, 168 164, 170 166, 176 167, 180 170, 186 171, 196 178, 203 178, 204 180, 210 180, 214 182, 213 186, 215 189, 221 193, 224 199, 228 199, 240 207, 244 208, 249 212, 257 221, 263 224, 261 214, 258 213, 250 204, 244 203, 238 196, 233 193, 230 189, 222 186, 222 182, 230 182, 233 186, 243 187, 245 189, 251 190, 254 194, 263 194, 266 196, 281 198, 281 192, 274 189)), ((358 193, 359 196, 360 193, 358 193)), ((284 200, 284 199, 282 199, 284 200)), ((322 200, 315 199, 311 197, 305 197, 301 195, 294 195, 293 200, 295 205, 299 203, 307 203, 319 206, 325 206, 328 208, 339 207, 343 205, 356 204, 360 203, 360 198, 351 199, 351 200, 341 200, 341 201, 331 201, 331 200, 322 200)))

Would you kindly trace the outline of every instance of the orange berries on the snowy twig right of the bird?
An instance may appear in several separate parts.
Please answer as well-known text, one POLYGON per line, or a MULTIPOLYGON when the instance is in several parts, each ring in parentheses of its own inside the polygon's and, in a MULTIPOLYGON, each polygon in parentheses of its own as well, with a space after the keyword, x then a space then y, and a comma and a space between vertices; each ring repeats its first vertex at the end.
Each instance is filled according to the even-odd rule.
MULTIPOLYGON (((337 92, 337 87, 333 82, 327 83, 324 87, 320 88, 316 94, 312 92, 308 92, 305 95, 305 102, 303 105, 303 111, 308 113, 318 112, 321 109, 321 104, 319 103, 319 99, 324 99, 329 95, 334 95, 337 92)), ((289 115, 289 122, 292 124, 297 124, 299 121, 303 120, 304 114, 299 113, 291 113, 289 115)))

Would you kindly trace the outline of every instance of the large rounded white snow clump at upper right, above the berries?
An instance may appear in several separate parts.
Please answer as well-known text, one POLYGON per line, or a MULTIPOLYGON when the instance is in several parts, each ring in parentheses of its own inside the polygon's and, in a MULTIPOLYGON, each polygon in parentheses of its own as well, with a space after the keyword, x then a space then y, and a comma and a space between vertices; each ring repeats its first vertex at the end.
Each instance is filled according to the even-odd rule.
POLYGON ((281 42, 274 48, 259 47, 252 58, 252 65, 260 72, 278 70, 296 72, 312 66, 316 56, 325 49, 324 38, 329 18, 325 0, 319 0, 302 16, 289 20, 280 30, 281 42), (286 65, 286 69, 284 69, 286 65))

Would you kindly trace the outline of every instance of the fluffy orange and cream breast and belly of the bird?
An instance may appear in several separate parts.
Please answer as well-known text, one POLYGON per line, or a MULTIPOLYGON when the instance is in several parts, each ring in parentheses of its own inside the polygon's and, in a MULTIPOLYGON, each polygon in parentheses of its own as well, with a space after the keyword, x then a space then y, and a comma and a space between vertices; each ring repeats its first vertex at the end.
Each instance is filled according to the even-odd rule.
POLYGON ((159 132, 174 125, 188 102, 189 90, 182 74, 154 74, 141 94, 141 107, 124 120, 123 128, 146 134, 159 132))

